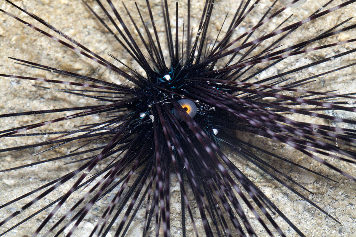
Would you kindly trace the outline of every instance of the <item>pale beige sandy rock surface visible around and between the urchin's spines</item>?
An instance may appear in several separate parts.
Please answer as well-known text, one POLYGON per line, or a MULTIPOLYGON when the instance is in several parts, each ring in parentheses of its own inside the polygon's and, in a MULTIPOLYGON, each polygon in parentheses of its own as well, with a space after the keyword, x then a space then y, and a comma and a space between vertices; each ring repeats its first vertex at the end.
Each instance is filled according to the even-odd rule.
MULTIPOLYGON (((133 68, 140 69, 132 63, 129 59, 127 53, 122 53, 122 49, 118 46, 117 43, 105 33, 106 31, 101 27, 96 20, 93 19, 93 16, 90 14, 88 9, 85 8, 84 4, 81 1, 69 1, 69 0, 22 0, 14 1, 21 7, 24 7, 26 10, 33 12, 43 18, 45 21, 50 22, 58 29, 61 29, 63 32, 72 36, 78 42, 83 43, 88 48, 93 49, 99 55, 104 56, 106 59, 112 61, 112 59, 106 55, 106 53, 112 53, 114 56, 118 57, 124 63, 132 66, 133 68)), ((95 10, 99 10, 99 7, 96 6, 95 1, 87 1, 90 6, 93 6, 95 10)), ((123 13, 122 4, 119 1, 114 1, 117 7, 120 7, 121 12, 123 13)), ((131 1, 124 1, 130 12, 135 12, 133 15, 136 17, 135 5, 131 1)), ((155 19, 162 17, 162 12, 160 10, 160 1, 152 1, 153 9, 155 10, 155 19)), ((203 1, 192 1, 192 25, 197 26, 198 17, 200 15, 201 9, 203 7, 203 1)), ((270 0, 261 1, 262 7, 260 10, 256 10, 255 13, 260 17, 261 9, 263 7, 269 6, 272 2, 270 0)), ((284 1, 283 1, 284 2, 284 1)), ((308 16, 310 12, 318 9, 318 7, 324 4, 326 1, 301 1, 301 3, 296 4, 290 9, 287 9, 283 13, 283 17, 294 14, 290 22, 295 22, 297 20, 303 19, 303 17, 308 16)), ((339 2, 339 1, 335 1, 339 2)), ((185 4, 185 1, 179 2, 180 5, 185 4)), ((230 17, 232 12, 234 12, 239 4, 238 1, 233 0, 220 0, 215 3, 215 14, 213 14, 211 19, 211 27, 216 31, 221 22, 224 20, 225 14, 227 11, 230 11, 230 17), (237 3, 236 3, 237 2, 237 3)), ((138 1, 140 8, 144 9, 145 3, 143 1, 138 1)), ((171 12, 174 11, 175 4, 172 2, 171 5, 173 8, 171 12)), ((334 6, 336 3, 331 4, 334 6)), ((276 7, 273 8, 275 11, 282 6, 282 3, 278 3, 276 7)), ((16 16, 20 16, 26 20, 29 20, 29 17, 20 13, 19 10, 16 10, 14 7, 11 7, 10 4, 6 3, 4 0, 0 2, 1 9, 8 10, 16 16)), ((182 11, 183 12, 183 11, 182 11)), ((321 32, 321 30, 330 28, 335 24, 335 22, 340 22, 347 19, 348 17, 354 16, 356 13, 356 4, 352 4, 342 10, 336 11, 326 17, 323 17, 320 20, 314 21, 313 23, 308 23, 304 27, 298 29, 293 34, 293 37, 289 37, 287 41, 283 41, 286 45, 292 45, 293 42, 299 42, 305 39, 304 37, 314 36, 315 32, 321 32)), ((103 16, 101 14, 100 16, 103 16)), ((148 19, 147 14, 145 15, 148 19)), ((257 23, 258 17, 249 18, 246 20, 246 24, 243 25, 245 29, 248 29, 252 26, 253 23, 257 23)), ((171 20, 174 17, 171 18, 171 20)), ((182 20, 183 18, 180 18, 182 20)), ((231 18, 230 18, 231 19, 231 18)), ((267 24, 261 29, 258 35, 269 32, 274 28, 282 18, 273 19, 270 24, 267 24), (262 33, 261 33, 262 32, 262 33)), ((30 20, 31 23, 36 23, 33 20, 30 20)), ((173 22, 174 20, 172 20, 173 22)), ((159 21, 157 20, 158 29, 159 21)), ((181 22, 181 21, 180 21, 181 22)), ((356 20, 351 20, 352 23, 356 23, 356 20)), ((351 23, 347 23, 351 25, 351 23)), ((36 23, 36 26, 45 28, 40 23, 36 23)), ((239 28, 239 31, 243 31, 244 28, 239 28)), ((51 32, 53 33, 53 32, 51 32)), ((216 32, 215 32, 216 33, 216 32)), ((214 32, 212 33, 214 34, 214 32)), ((321 43, 331 43, 335 41, 343 41, 345 39, 352 38, 355 36, 355 31, 342 33, 337 37, 333 37, 330 41, 322 41, 321 43)), ((134 37, 137 37, 135 34, 134 37)), ((313 44, 313 45, 318 45, 313 44)), ((340 53, 347 49, 355 48, 356 44, 347 44, 335 47, 331 50, 321 50, 321 52, 312 52, 307 55, 298 55, 289 59, 284 60, 282 63, 278 64, 276 67, 264 72, 258 76, 258 79, 262 79, 269 75, 274 75, 280 73, 287 69, 292 69, 307 63, 311 63, 323 57, 328 57, 336 53, 340 53)), ((165 52, 167 53, 167 52, 165 52)), ((68 80, 64 76, 59 76, 51 72, 41 71, 37 69, 30 69, 26 66, 21 66, 15 64, 13 60, 8 59, 8 56, 25 59, 29 61, 35 61, 40 64, 50 65, 56 68, 72 70, 80 74, 89 75, 93 77, 98 77, 100 79, 119 82, 120 77, 110 73, 108 70, 105 70, 103 66, 99 66, 95 62, 84 58, 82 55, 74 53, 72 50, 61 46, 59 43, 52 41, 51 39, 42 36, 40 33, 35 32, 35 30, 22 25, 21 23, 15 21, 14 19, 0 14, 0 73, 1 74, 14 74, 22 76, 34 76, 34 77, 44 77, 49 79, 58 79, 58 80, 68 80)), ((356 60, 355 53, 350 54, 342 60, 334 60, 332 62, 315 66, 311 69, 304 70, 293 74, 295 77, 308 77, 311 75, 318 74, 322 71, 330 70, 330 68, 338 67, 339 65, 345 65, 347 63, 353 63, 356 60)), ((313 84, 308 85, 309 90, 319 90, 319 91, 329 91, 329 90, 338 90, 337 93, 348 93, 356 91, 356 81, 355 78, 355 67, 348 68, 336 72, 334 74, 326 75, 319 77, 313 84)), ((61 107, 75 107, 81 105, 91 104, 90 99, 82 99, 75 96, 68 96, 64 93, 58 92, 56 90, 44 89, 37 86, 49 86, 52 88, 57 88, 57 85, 50 85, 45 83, 34 83, 32 81, 16 80, 9 78, 0 78, 0 114, 4 113, 15 113, 20 111, 31 111, 31 110, 40 110, 40 109, 53 109, 61 107)), ((59 86, 60 88, 64 88, 59 86)), ((323 113, 323 112, 321 112, 323 113)), ((326 113, 326 112, 325 112, 326 113)), ((331 112, 330 112, 331 113, 331 112)), ((66 113, 61 113, 63 116, 66 113)), ((70 114, 70 113, 68 113, 70 114)), ((337 113, 333 112, 333 115, 340 117, 346 117, 350 119, 356 119, 356 116, 351 113, 337 113)), ((58 115, 49 114, 47 116, 42 115, 31 115, 31 116, 20 116, 13 118, 0 118, 0 129, 11 128, 14 126, 21 126, 29 123, 36 123, 43 120, 49 120, 55 118, 58 115)), ((299 117, 292 117, 293 119, 303 119, 299 117)), ((61 130, 61 129, 75 129, 78 128, 78 124, 87 124, 95 123, 100 121, 100 117, 88 117, 83 120, 67 121, 65 123, 59 123, 56 126, 51 126, 49 130, 61 130)), ((327 123, 320 119, 311 119, 307 122, 314 123, 327 123)), ((355 128, 354 126, 348 125, 348 128, 355 128)), ((36 130, 40 131, 40 129, 36 130)), ((48 131, 48 130, 47 130, 48 131)), ((0 149, 11 147, 11 146, 21 146, 24 144, 31 144, 33 142, 42 141, 41 137, 36 138, 1 138, 0 139, 0 149)), ((324 208, 325 211, 333 215, 337 220, 339 220, 342 225, 339 225, 335 221, 326 217, 320 211, 313 208, 311 205, 300 199, 298 196, 288 192, 286 188, 281 187, 277 182, 270 180, 266 176, 262 176, 262 173, 257 170, 257 168, 250 168, 248 163, 241 161, 241 158, 235 157, 229 151, 226 150, 227 155, 231 158, 232 161, 249 177, 252 181, 256 182, 258 187, 261 188, 265 194, 271 198, 271 200, 290 218, 290 220, 297 225, 297 227, 306 235, 306 236, 342 236, 342 237, 351 237, 355 236, 356 233, 356 183, 351 180, 337 174, 336 172, 330 171, 319 163, 311 161, 310 158, 305 158, 298 152, 295 152, 293 149, 286 145, 274 144, 273 142, 266 141, 261 138, 246 137, 247 140, 253 144, 259 144, 263 147, 268 147, 272 152, 275 152, 278 155, 284 157, 289 157, 293 161, 306 165, 310 168, 313 168, 320 172, 325 172, 329 177, 336 179, 339 183, 334 183, 331 181, 325 181, 323 178, 316 177, 314 175, 308 174, 307 172, 300 172, 298 169, 285 169, 284 171, 290 172, 291 176, 301 181, 305 187, 312 190, 314 194, 308 194, 308 198, 313 200, 317 205, 324 208)), ((42 151, 41 149, 28 149, 24 151, 17 152, 4 152, 0 153, 0 169, 6 169, 9 167, 20 166, 26 163, 33 161, 43 160, 46 158, 51 158, 59 156, 61 154, 68 153, 70 146, 58 147, 56 150, 42 153, 38 156, 32 156, 33 154, 42 151)), ((66 160, 67 162, 70 160, 66 160)), ((334 161, 331 161, 334 162, 334 161)), ((20 169, 17 171, 0 173, 0 204, 4 204, 6 201, 16 198, 26 192, 30 192, 39 185, 43 185, 46 181, 51 181, 60 175, 65 174, 73 170, 78 165, 63 165, 63 161, 50 162, 47 164, 42 164, 38 166, 28 167, 25 169, 20 169)), ((356 176, 356 166, 349 165, 341 162, 334 162, 333 164, 338 165, 344 171, 350 173, 354 177, 356 176)), ((105 165, 105 164, 103 164, 105 165)), ((282 164, 283 165, 283 164, 282 164)), ((102 166, 101 168, 103 168, 102 166)), ((179 196, 179 185, 177 184, 177 178, 175 174, 172 174, 172 197, 171 197, 171 225, 172 225, 172 236, 180 236, 180 196, 179 196)), ((62 185, 58 188, 56 197, 58 195, 63 195, 66 193, 66 190, 70 188, 70 184, 62 185), (63 186, 63 187, 62 187, 63 186)), ((73 194, 70 200, 76 200, 80 194, 73 194)), ((10 215, 13 211, 19 210, 21 205, 24 205, 25 201, 30 201, 31 198, 21 200, 17 205, 12 204, 6 206, 0 210, 0 219, 4 219, 6 216, 10 215)), ((108 200, 111 200, 112 195, 109 195, 108 198, 103 199, 103 203, 107 203, 108 200)), ((191 195, 190 195, 190 198, 191 195)), ((34 210, 38 210, 40 206, 47 205, 52 201, 52 198, 45 198, 43 202, 36 203, 33 207, 29 208, 28 211, 21 213, 18 219, 15 219, 11 222, 6 223, 4 226, 0 227, 0 232, 4 231, 6 228, 11 227, 18 221, 22 220, 25 216, 33 213, 34 210), (33 208, 33 209, 32 209, 33 208)), ((68 204, 69 206, 69 204, 68 204)), ((103 205, 104 206, 104 205, 103 205)), ((50 208, 49 210, 51 210, 50 208)), ((97 220, 100 216, 102 209, 100 207, 95 207, 93 213, 88 215, 85 219, 87 226, 90 226, 90 222, 97 220)), ((64 213, 64 211, 60 211, 64 213)), ((139 211, 135 217, 132 227, 130 228, 127 236, 141 236, 142 230, 140 226, 144 221, 145 211, 139 211)), ((199 218, 198 210, 194 209, 194 214, 199 218)), ((262 227, 258 225, 257 220, 253 218, 251 212, 248 213, 248 216, 251 217, 251 222, 256 226, 256 232, 259 236, 267 236, 263 232, 262 227)), ((40 225, 41 220, 43 220, 43 215, 37 215, 31 220, 25 222, 23 225, 17 227, 10 233, 7 233, 7 237, 25 237, 30 236, 31 232, 40 225)), ((276 217, 278 225, 285 231, 287 236, 297 236, 297 234, 290 228, 286 222, 282 220, 281 217, 276 217)), ((51 222, 53 224, 54 222, 51 222)), ((188 223, 187 223, 188 224, 188 223)), ((201 223, 197 221, 197 226, 201 230, 201 223)), ((77 236, 85 236, 84 232, 77 233, 77 236)), ((113 236, 115 230, 111 231, 113 236)), ((275 233, 275 232, 274 232, 275 233)), ((275 233, 278 235, 277 233, 275 233)), ((64 236, 62 233, 60 236, 64 236)), ((108 235, 110 236, 110 235, 108 235)), ((154 236, 154 232, 150 236, 154 236)), ((188 227, 187 236, 195 236, 194 231, 191 227, 188 227)), ((204 232, 201 232, 200 236, 204 236, 204 232)))

